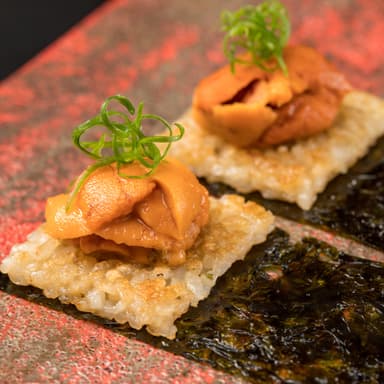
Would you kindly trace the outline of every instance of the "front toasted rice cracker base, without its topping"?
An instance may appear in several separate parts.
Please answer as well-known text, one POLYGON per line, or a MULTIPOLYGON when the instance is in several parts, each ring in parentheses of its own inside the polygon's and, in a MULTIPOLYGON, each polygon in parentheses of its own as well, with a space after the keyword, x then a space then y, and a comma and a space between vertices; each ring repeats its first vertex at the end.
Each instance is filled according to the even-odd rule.
POLYGON ((187 252, 187 262, 176 268, 98 261, 40 227, 12 248, 0 270, 15 284, 38 287, 80 311, 172 339, 174 321, 206 298, 216 279, 274 227, 270 212, 239 196, 211 197, 210 206, 209 223, 187 252))

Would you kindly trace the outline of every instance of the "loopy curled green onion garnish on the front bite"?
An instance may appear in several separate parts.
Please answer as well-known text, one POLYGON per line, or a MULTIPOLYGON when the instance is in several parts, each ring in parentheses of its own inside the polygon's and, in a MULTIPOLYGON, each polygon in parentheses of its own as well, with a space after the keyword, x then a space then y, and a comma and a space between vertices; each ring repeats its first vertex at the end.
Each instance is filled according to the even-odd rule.
POLYGON ((164 118, 158 115, 144 114, 143 103, 140 103, 136 110, 131 101, 124 96, 108 97, 102 104, 98 115, 80 124, 72 132, 72 139, 76 147, 95 159, 95 163, 86 168, 77 179, 69 196, 66 209, 70 208, 74 197, 89 175, 100 167, 116 163, 119 176, 125 178, 143 178, 151 175, 167 156, 171 144, 180 140, 184 135, 184 127, 179 123, 174 123, 174 125, 178 129, 177 134, 174 134, 172 125, 164 118), (120 104, 123 111, 110 109, 111 102, 120 104), (143 132, 144 120, 159 122, 166 128, 169 135, 146 136, 143 132), (90 129, 100 127, 105 127, 106 133, 101 135, 98 140, 82 140, 83 135, 90 129), (166 144, 162 150, 157 146, 160 143, 166 144), (148 169, 148 172, 144 175, 133 176, 120 171, 122 165, 134 161, 140 162, 148 169))

